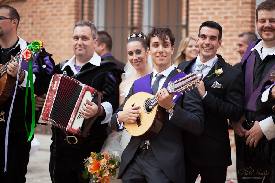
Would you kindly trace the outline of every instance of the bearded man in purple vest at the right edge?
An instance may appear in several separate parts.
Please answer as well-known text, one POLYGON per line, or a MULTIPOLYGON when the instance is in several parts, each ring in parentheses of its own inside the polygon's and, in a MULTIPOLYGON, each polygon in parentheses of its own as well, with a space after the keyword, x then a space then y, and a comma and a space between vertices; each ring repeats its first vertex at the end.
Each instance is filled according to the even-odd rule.
POLYGON ((237 139, 237 157, 244 161, 244 169, 237 173, 242 175, 246 172, 244 177, 261 177, 264 182, 268 182, 274 176, 272 166, 275 156, 275 116, 270 111, 257 112, 255 102, 264 82, 274 81, 275 78, 275 1, 267 0, 257 7, 256 24, 262 40, 252 42, 242 58, 245 113, 240 121, 232 124, 241 137, 237 139))

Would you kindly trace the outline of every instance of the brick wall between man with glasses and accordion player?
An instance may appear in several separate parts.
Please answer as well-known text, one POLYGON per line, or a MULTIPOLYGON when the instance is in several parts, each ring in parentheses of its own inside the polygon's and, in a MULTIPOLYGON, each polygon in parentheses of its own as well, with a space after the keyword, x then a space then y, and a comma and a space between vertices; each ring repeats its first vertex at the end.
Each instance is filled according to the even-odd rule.
POLYGON ((21 38, 28 42, 42 40, 56 63, 73 56, 72 28, 81 18, 80 0, 24 0, 6 4, 20 14, 17 34, 21 38))

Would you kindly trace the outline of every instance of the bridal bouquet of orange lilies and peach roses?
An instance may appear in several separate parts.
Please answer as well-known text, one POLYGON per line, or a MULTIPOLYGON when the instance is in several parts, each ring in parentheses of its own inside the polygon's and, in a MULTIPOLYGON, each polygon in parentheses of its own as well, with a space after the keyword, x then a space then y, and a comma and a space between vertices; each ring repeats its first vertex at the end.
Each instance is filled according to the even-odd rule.
POLYGON ((94 178, 94 183, 109 183, 109 179, 116 176, 116 169, 119 168, 120 162, 116 160, 114 154, 109 152, 95 153, 84 159, 85 170, 83 178, 94 178))

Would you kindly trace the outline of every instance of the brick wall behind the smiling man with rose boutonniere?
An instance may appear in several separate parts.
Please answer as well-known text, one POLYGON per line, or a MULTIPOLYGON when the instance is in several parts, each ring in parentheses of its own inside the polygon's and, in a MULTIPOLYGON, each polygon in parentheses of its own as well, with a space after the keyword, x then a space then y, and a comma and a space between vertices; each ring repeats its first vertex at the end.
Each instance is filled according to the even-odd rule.
POLYGON ((226 62, 240 62, 238 35, 255 32, 256 0, 189 0, 189 36, 198 37, 200 24, 212 20, 223 28, 222 46, 218 48, 226 62))

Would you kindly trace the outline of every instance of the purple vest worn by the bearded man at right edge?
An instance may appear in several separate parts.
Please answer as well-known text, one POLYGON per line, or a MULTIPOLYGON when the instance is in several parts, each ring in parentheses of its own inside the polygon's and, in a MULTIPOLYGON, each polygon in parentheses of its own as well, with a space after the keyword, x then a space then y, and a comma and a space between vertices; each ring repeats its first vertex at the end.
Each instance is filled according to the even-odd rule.
POLYGON ((261 81, 259 87, 254 90, 254 85, 253 85, 253 80, 254 80, 254 65, 255 65, 255 59, 256 55, 254 54, 254 50, 250 51, 254 46, 259 43, 260 39, 257 41, 252 42, 248 48, 247 51, 245 52, 243 58, 242 58, 242 63, 246 61, 245 65, 245 94, 244 94, 244 109, 249 110, 249 111, 256 111, 255 108, 255 103, 257 97, 261 94, 261 88, 264 84, 265 81, 274 79, 275 77, 275 65, 269 70, 269 72, 266 74, 264 79, 261 81))

